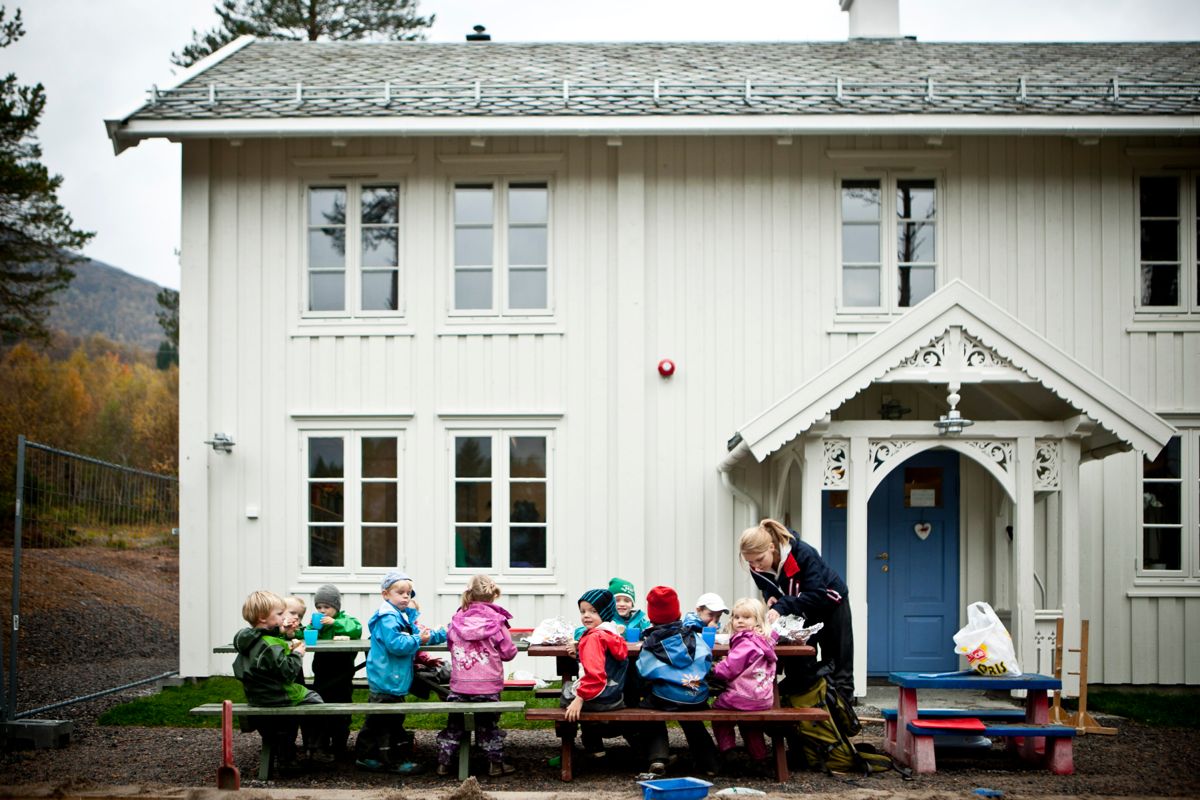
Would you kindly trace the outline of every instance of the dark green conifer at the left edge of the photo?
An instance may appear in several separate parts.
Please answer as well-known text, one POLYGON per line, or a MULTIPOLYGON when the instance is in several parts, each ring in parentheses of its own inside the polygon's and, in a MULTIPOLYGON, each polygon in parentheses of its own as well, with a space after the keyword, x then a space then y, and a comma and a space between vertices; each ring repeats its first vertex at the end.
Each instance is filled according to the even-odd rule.
MULTIPOLYGON (((25 35, 20 11, 0 6, 0 48, 25 35)), ((71 264, 92 234, 77 230, 59 204, 60 175, 41 163, 35 132, 46 109, 42 84, 0 79, 0 337, 46 339, 54 294, 74 277, 71 264)))

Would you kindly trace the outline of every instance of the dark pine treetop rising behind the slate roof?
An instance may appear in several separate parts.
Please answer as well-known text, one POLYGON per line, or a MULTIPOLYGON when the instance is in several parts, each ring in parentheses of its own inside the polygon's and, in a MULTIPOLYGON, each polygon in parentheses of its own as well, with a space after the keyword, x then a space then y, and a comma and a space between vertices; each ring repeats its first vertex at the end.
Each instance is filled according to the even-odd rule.
POLYGON ((172 53, 173 64, 188 67, 239 36, 294 42, 425 38, 433 16, 416 13, 418 0, 220 0, 221 24, 192 31, 192 43, 172 53))

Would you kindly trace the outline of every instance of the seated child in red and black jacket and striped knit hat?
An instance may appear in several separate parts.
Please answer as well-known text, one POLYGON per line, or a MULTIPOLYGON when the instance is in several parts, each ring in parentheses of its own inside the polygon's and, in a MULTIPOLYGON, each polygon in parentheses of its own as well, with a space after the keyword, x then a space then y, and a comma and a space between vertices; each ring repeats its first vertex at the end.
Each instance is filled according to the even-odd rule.
MULTIPOLYGON (((580 718, 581 711, 614 711, 625 708, 625 672, 629 667, 629 648, 617 633, 613 616, 617 603, 607 589, 589 589, 580 595, 580 621, 583 637, 577 649, 583 676, 574 685, 563 686, 563 715, 568 722, 580 718)), ((593 758, 604 758, 604 734, 606 723, 580 724, 583 750, 593 758)))

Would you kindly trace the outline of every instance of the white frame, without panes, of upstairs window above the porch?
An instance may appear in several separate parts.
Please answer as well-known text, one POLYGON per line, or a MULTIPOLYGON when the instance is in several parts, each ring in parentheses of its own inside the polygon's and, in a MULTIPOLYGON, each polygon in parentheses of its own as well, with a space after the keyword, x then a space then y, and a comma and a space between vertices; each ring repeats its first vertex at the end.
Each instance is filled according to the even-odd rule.
POLYGON ((934 291, 937 291, 946 282, 946 175, 937 169, 914 168, 875 168, 864 167, 862 169, 839 170, 834 176, 834 203, 835 203, 835 230, 834 242, 836 251, 836 314, 834 323, 888 323, 896 317, 907 313, 912 306, 899 306, 900 281, 899 259, 896 258, 896 184, 906 180, 934 181, 936 212, 934 216, 934 291), (842 210, 841 187, 844 181, 880 181, 881 209, 880 209, 880 306, 847 306, 842 296, 844 276, 842 266, 842 210))

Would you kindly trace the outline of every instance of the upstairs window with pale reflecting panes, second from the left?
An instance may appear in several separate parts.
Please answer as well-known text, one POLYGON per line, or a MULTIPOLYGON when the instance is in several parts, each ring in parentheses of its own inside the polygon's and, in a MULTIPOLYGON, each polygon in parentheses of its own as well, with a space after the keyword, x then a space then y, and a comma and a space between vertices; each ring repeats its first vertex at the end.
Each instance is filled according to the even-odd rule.
POLYGON ((550 187, 496 180, 454 187, 454 311, 550 311, 550 187))

